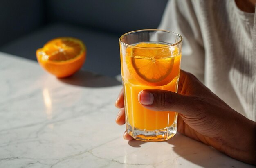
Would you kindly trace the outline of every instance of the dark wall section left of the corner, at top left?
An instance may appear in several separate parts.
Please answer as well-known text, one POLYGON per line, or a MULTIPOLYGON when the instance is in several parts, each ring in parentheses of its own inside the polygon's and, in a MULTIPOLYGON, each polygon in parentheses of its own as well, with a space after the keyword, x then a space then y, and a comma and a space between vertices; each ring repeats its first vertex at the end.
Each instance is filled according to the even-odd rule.
POLYGON ((0 0, 0 46, 44 24, 42 0, 0 0))

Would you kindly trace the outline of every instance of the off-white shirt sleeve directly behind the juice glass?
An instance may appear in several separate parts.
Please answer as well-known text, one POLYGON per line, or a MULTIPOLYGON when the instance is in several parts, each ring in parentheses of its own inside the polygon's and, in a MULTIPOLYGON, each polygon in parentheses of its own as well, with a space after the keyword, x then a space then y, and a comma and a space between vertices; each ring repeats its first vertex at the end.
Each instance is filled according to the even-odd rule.
POLYGON ((204 83, 204 44, 195 9, 191 0, 169 0, 158 28, 183 37, 181 69, 204 83))

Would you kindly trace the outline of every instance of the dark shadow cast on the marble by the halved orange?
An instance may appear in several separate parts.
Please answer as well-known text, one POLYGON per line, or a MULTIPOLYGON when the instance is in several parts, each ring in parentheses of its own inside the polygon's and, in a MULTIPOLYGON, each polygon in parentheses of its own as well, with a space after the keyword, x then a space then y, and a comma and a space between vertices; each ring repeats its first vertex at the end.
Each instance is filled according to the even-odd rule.
POLYGON ((74 75, 67 78, 59 78, 63 83, 70 85, 83 86, 83 87, 110 87, 121 85, 122 83, 114 78, 94 74, 92 72, 80 70, 74 75))

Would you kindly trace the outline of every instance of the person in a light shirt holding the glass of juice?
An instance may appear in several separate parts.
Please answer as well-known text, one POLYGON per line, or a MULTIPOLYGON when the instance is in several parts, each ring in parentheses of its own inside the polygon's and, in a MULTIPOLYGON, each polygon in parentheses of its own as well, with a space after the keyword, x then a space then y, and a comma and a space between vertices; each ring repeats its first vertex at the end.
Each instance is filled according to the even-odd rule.
MULTIPOLYGON (((256 165, 255 4, 169 0, 159 29, 184 39, 178 93, 143 90, 138 100, 155 111, 177 111, 179 133, 256 165)), ((122 125, 123 91, 115 105, 122 125)), ((124 138, 132 140, 126 132, 124 138)))

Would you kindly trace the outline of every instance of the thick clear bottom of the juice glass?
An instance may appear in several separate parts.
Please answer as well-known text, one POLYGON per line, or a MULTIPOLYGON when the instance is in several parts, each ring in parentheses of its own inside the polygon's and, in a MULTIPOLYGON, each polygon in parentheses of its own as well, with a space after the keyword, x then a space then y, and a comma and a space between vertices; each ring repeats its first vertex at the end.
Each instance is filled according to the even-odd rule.
MULTIPOLYGON (((176 120, 177 121, 177 120, 176 120)), ((165 141, 173 137, 177 132, 177 122, 170 127, 158 130, 137 129, 126 123, 126 131, 136 140, 141 141, 165 141)))

